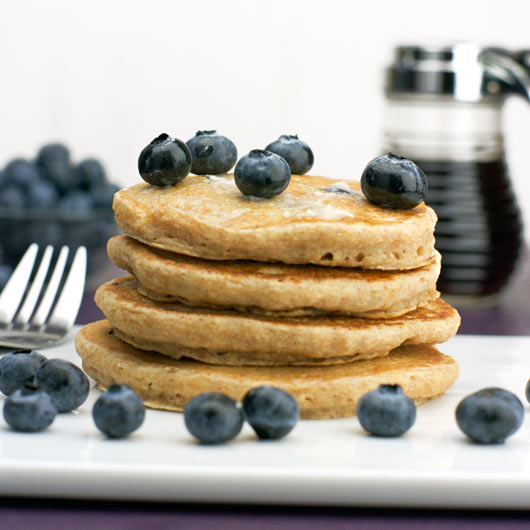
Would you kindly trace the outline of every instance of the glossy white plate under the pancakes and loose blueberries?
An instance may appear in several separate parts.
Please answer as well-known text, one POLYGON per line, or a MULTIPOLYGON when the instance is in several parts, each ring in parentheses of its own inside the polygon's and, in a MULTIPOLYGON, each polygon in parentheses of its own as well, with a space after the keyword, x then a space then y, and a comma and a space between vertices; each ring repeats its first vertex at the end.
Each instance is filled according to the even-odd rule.
MULTIPOLYGON (((530 337, 457 336, 440 349, 460 363, 455 386, 418 408, 402 438, 363 433, 356 418, 301 421, 281 441, 245 425, 231 443, 201 446, 181 414, 148 410, 129 439, 109 440, 76 412, 40 434, 0 419, 0 495, 310 505, 530 508, 530 424, 501 445, 470 443, 454 419, 462 397, 486 386, 525 404, 530 337)), ((79 363, 70 339, 42 350, 79 363)), ((528 412, 526 413, 528 414, 528 412)))

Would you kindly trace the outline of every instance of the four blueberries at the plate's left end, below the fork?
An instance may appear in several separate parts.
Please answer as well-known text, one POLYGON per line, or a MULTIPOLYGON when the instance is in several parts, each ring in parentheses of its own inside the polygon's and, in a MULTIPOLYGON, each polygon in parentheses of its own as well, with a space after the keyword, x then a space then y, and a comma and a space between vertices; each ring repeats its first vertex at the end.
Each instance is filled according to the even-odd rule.
MULTIPOLYGON (((0 358, 0 391, 4 419, 15 431, 40 432, 59 412, 80 407, 90 385, 84 372, 63 359, 46 359, 32 350, 17 350, 0 358)), ((111 385, 92 409, 94 423, 109 437, 122 438, 143 423, 145 408, 125 385, 111 385)))

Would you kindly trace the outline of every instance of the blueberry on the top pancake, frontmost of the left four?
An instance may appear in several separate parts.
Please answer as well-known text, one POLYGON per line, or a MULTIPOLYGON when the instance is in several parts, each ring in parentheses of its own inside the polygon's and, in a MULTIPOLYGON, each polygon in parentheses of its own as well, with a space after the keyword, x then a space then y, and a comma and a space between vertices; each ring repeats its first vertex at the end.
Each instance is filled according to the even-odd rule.
POLYGON ((254 149, 236 164, 234 177, 241 193, 267 199, 287 188, 291 170, 281 156, 254 149))

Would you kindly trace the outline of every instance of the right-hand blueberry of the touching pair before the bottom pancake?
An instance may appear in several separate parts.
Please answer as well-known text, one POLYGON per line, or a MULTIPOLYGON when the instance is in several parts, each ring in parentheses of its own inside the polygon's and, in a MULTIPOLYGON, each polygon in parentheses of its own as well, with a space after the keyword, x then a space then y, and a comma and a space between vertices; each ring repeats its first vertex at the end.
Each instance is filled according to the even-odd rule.
POLYGON ((293 430, 299 411, 296 399, 289 392, 260 386, 246 393, 243 412, 260 438, 277 440, 293 430))

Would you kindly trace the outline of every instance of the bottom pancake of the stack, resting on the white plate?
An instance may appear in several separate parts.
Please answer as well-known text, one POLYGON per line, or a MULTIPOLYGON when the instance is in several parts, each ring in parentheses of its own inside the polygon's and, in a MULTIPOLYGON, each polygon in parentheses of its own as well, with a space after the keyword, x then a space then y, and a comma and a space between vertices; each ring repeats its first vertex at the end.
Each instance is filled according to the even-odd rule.
POLYGON ((227 367, 172 360, 116 338, 110 324, 94 322, 76 336, 83 369, 100 388, 131 387, 148 407, 182 411, 201 392, 223 392, 235 400, 260 385, 293 394, 306 419, 354 416, 363 394, 379 384, 400 384, 416 404, 443 394, 458 365, 433 346, 402 346, 384 358, 340 366, 227 367))

